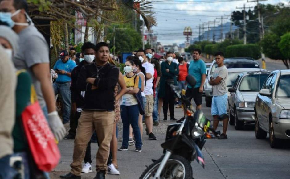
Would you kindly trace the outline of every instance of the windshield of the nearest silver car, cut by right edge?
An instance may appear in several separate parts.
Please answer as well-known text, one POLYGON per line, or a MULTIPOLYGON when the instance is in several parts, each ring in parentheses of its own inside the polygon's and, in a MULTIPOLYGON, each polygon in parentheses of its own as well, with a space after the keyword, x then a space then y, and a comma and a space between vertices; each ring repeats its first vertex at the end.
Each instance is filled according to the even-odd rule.
POLYGON ((290 98, 290 75, 282 75, 277 85, 277 98, 290 98))

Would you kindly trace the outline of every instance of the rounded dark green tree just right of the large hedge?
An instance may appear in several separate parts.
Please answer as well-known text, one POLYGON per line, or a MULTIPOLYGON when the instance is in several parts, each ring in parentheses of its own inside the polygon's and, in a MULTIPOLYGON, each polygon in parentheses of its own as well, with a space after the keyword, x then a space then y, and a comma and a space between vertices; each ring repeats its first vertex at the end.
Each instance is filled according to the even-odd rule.
POLYGON ((280 39, 280 36, 274 33, 266 34, 261 41, 263 53, 272 59, 285 59, 285 57, 280 52, 280 48, 278 47, 280 39))

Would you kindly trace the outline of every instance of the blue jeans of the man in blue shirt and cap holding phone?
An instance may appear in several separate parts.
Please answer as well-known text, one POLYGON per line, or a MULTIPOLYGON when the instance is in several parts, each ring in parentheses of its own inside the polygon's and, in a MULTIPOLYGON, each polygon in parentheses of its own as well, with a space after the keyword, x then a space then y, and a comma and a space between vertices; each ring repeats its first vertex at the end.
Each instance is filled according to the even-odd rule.
POLYGON ((69 121, 69 116, 71 114, 71 90, 70 81, 64 84, 58 82, 53 83, 53 89, 55 95, 60 94, 63 103, 63 123, 69 121))

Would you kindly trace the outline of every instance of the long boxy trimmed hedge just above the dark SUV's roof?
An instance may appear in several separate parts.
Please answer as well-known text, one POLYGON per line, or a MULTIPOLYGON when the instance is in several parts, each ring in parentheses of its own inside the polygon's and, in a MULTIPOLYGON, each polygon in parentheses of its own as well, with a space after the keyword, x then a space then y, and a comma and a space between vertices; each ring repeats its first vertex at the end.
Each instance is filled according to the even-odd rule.
POLYGON ((260 47, 256 44, 230 45, 226 48, 225 56, 230 57, 251 57, 258 59, 260 56, 260 47))

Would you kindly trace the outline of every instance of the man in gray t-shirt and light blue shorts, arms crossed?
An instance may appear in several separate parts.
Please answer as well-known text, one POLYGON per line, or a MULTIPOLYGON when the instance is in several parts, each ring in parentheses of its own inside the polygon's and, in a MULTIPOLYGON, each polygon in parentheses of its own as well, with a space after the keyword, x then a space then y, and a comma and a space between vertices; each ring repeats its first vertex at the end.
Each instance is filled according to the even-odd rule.
MULTIPOLYGON (((214 74, 210 78, 210 85, 212 85, 212 102, 211 102, 211 115, 214 117, 214 129, 216 130, 219 121, 218 117, 222 114, 227 114, 227 67, 223 64, 223 52, 215 54, 215 61, 218 68, 214 70, 214 74)), ((228 118, 223 120, 223 133, 218 139, 227 139, 227 123, 228 118)))

